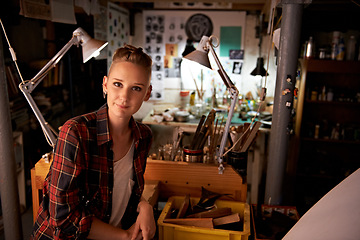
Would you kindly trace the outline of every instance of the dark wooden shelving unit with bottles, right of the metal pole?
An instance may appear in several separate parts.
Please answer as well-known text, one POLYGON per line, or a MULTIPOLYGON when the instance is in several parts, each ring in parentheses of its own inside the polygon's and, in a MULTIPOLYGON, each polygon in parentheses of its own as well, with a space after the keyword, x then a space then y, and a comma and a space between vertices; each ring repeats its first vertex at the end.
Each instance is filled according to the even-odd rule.
POLYGON ((293 161, 308 209, 360 167, 360 62, 301 59, 300 71, 293 161))

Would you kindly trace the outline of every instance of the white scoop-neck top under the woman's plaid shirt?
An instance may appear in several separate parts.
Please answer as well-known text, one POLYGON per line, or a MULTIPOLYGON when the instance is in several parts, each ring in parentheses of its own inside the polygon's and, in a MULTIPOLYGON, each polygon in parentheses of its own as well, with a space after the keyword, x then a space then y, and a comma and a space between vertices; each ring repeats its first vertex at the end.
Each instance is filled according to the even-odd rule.
POLYGON ((122 159, 114 161, 114 187, 110 224, 115 227, 121 227, 121 219, 128 205, 131 190, 135 184, 132 180, 133 156, 134 142, 122 159))

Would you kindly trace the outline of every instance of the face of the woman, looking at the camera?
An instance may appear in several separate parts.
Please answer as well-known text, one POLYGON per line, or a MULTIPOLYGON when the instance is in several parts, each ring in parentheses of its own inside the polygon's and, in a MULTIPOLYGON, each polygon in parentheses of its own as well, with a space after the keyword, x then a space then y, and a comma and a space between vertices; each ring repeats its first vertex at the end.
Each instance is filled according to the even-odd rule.
POLYGON ((118 62, 104 77, 103 88, 107 92, 109 117, 130 118, 150 97, 150 76, 140 65, 118 62))

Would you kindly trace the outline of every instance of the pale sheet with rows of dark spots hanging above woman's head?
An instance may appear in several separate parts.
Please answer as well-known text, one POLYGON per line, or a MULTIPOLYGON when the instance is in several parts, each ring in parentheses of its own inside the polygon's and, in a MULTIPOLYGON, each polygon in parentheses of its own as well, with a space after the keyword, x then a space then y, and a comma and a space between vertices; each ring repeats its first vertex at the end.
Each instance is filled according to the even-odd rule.
POLYGON ((111 65, 112 55, 119 47, 129 42, 129 11, 114 3, 108 2, 107 8, 107 67, 111 65))

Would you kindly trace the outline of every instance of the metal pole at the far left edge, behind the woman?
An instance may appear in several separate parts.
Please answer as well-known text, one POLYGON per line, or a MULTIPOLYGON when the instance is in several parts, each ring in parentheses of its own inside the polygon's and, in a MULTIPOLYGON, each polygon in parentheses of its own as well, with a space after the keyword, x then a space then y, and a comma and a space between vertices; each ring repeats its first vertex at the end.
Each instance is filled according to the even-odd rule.
POLYGON ((6 84, 4 52, 0 37, 0 194, 5 239, 23 239, 16 163, 6 84))

